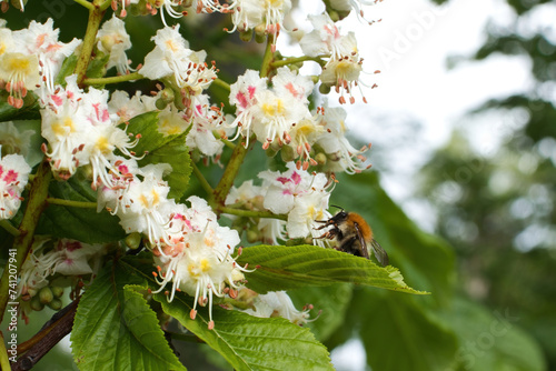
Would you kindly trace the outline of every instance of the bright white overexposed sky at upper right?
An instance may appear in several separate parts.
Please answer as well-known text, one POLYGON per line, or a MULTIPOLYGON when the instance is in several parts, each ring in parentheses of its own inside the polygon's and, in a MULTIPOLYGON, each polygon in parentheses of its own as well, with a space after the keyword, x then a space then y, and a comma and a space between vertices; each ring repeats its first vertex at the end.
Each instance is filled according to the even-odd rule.
MULTIPOLYGON (((302 14, 322 10, 315 9, 312 1, 300 3, 292 18, 296 27, 310 31, 302 14)), ((488 99, 530 89, 529 61, 493 56, 480 63, 448 66, 450 58, 468 57, 483 44, 489 21, 513 22, 515 16, 503 0, 451 0, 444 7, 426 0, 385 0, 364 9, 367 20, 380 21, 369 26, 351 14, 339 24, 344 32, 356 32, 364 69, 380 73, 364 77, 369 87, 377 83, 378 88, 364 88, 367 104, 356 94, 357 102, 345 107, 347 126, 380 148, 381 160, 373 169, 380 171, 384 188, 413 220, 431 231, 435 215, 411 198, 411 180, 454 128, 474 130, 475 146, 485 156, 496 151, 520 118, 485 116, 471 122, 465 113, 488 99), (416 124, 417 130, 408 131, 408 124, 416 124)), ((549 19, 546 13, 539 17, 549 19)), ((301 53, 288 47, 287 38, 280 42, 282 53, 301 53)), ((306 71, 315 73, 315 67, 306 71)), ((365 350, 358 340, 335 349, 331 357, 338 371, 366 369, 365 350)))

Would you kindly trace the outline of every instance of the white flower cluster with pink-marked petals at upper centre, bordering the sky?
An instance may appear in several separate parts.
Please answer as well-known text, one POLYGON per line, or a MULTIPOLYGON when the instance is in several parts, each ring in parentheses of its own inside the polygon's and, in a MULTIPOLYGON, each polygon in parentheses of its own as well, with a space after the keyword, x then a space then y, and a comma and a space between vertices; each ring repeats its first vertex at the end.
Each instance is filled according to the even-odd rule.
POLYGON ((365 169, 361 153, 367 148, 356 150, 347 141, 345 111, 326 109, 326 104, 309 111, 308 97, 314 88, 310 79, 280 68, 272 87, 268 88, 266 78, 247 70, 230 87, 230 103, 236 106, 236 120, 231 126, 238 128, 236 137, 245 137, 246 147, 252 132, 264 149, 281 150, 284 160, 298 159, 298 169, 307 170, 318 164, 312 157, 316 154, 312 146, 320 144, 325 156, 321 164, 326 158, 332 162, 324 170, 353 173, 365 169))

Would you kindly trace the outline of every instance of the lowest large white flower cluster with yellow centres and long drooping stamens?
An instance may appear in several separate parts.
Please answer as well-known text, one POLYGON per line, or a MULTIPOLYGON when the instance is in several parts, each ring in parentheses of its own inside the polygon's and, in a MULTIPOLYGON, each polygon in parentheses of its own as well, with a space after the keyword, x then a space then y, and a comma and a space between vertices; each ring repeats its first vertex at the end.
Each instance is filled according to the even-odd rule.
POLYGON ((214 295, 235 297, 245 269, 231 257, 240 239, 237 231, 220 227, 207 201, 190 197, 190 208, 177 204, 172 213, 169 241, 153 250, 158 272, 157 282, 162 291, 171 282, 168 300, 176 291, 195 297, 191 319, 197 305, 209 307, 209 329, 214 328, 214 295))

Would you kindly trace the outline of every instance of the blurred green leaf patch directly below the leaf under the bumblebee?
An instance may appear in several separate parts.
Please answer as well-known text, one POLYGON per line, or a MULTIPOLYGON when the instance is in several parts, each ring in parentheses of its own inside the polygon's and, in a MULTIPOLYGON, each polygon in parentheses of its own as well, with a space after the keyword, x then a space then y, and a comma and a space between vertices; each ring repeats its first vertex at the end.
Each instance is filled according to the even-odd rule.
POLYGON ((332 332, 344 322, 348 315, 354 285, 349 283, 336 283, 328 287, 308 287, 288 291, 297 309, 306 304, 312 304, 311 318, 318 319, 307 323, 319 341, 326 341, 332 332), (318 313, 318 314, 317 314, 318 313))

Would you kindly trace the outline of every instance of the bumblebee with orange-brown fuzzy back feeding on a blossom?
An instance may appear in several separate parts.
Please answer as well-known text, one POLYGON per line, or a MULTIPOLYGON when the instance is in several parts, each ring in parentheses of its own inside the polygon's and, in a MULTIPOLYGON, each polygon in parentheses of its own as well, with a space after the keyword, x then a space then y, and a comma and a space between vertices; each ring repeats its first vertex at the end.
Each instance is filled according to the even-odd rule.
POLYGON ((317 230, 331 225, 330 230, 319 238, 327 238, 329 240, 336 239, 339 244, 337 250, 367 259, 370 259, 370 247, 378 262, 383 267, 388 265, 388 254, 373 238, 373 230, 365 219, 358 213, 346 212, 341 208, 338 209, 340 209, 340 211, 332 218, 328 220, 317 220, 317 222, 324 223, 324 225, 317 228, 317 230))

